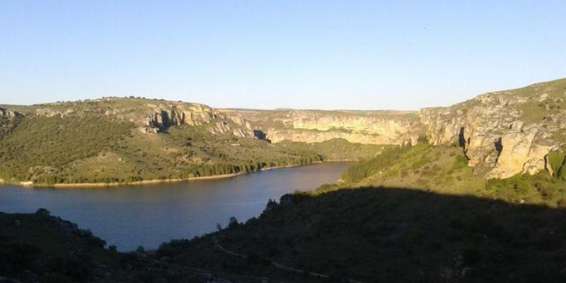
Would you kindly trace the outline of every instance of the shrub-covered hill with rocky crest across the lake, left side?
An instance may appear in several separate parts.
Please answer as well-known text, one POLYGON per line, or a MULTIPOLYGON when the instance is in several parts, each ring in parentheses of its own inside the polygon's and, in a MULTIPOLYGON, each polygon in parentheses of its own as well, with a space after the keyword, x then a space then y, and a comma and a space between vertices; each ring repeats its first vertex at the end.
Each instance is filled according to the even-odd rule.
POLYGON ((105 98, 3 107, 16 113, 0 117, 0 180, 9 183, 187 179, 357 160, 383 149, 338 139, 270 144, 245 120, 192 103, 105 98))

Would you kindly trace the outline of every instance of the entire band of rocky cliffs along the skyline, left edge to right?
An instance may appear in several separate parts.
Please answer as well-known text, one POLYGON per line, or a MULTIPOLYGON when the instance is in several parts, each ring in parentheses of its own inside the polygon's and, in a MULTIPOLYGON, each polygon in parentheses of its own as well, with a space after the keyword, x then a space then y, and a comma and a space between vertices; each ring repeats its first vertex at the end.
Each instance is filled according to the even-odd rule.
POLYGON ((566 79, 486 93, 450 107, 419 112, 219 110, 197 103, 144 98, 11 108, 0 108, 0 117, 105 115, 132 122, 144 134, 165 132, 172 125, 189 125, 202 126, 212 134, 272 143, 339 138, 361 144, 415 144, 426 135, 434 145, 461 146, 468 165, 487 178, 552 172, 548 154, 564 151, 566 144, 566 79))

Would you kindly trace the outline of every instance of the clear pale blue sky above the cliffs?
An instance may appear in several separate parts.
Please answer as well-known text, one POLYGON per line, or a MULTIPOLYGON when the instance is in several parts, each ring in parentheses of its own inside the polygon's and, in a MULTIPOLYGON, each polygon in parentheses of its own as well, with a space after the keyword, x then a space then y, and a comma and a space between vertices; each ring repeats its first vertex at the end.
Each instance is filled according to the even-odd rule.
POLYGON ((564 0, 0 5, 0 103, 412 110, 561 77, 564 0))

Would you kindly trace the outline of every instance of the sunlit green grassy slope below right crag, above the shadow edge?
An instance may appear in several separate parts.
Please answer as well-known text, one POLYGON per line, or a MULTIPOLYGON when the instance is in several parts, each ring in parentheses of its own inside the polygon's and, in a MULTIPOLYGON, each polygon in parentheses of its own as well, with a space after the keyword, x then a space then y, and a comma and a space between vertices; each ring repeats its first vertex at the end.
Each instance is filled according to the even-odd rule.
POLYGON ((419 144, 405 149, 389 149, 381 156, 354 164, 342 177, 345 182, 322 191, 341 187, 413 187, 447 195, 475 195, 506 202, 545 204, 566 202, 564 155, 556 154, 555 175, 516 175, 504 180, 485 180, 467 166, 462 150, 453 146, 419 144), (367 174, 362 174, 369 171, 367 174), (362 173, 359 173, 362 172, 362 173))

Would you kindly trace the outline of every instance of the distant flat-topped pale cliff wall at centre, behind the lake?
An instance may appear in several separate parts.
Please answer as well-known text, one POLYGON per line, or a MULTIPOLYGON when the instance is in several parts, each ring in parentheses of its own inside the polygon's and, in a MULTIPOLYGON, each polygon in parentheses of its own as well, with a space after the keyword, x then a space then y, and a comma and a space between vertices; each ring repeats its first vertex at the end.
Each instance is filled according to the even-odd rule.
POLYGON ((229 110, 246 117, 266 138, 321 142, 346 139, 361 144, 414 144, 422 134, 416 113, 398 111, 229 110))

